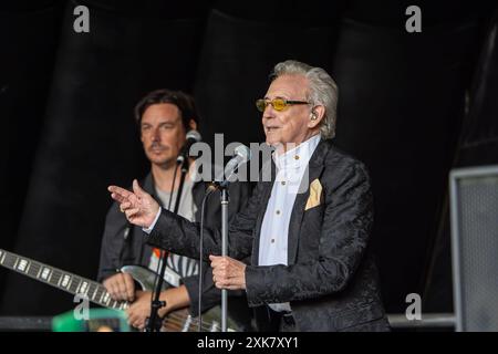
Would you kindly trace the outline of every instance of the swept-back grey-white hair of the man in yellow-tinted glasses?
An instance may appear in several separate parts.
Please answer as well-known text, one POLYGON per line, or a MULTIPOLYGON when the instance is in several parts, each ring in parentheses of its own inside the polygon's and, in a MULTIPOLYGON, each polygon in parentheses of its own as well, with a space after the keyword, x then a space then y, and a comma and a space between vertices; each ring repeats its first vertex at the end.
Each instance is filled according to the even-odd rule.
POLYGON ((303 75, 309 82, 307 100, 313 105, 323 105, 325 114, 320 126, 320 133, 324 138, 335 136, 335 123, 338 119, 338 85, 334 80, 321 67, 313 67, 295 60, 287 60, 278 63, 271 73, 271 80, 282 75, 303 75))

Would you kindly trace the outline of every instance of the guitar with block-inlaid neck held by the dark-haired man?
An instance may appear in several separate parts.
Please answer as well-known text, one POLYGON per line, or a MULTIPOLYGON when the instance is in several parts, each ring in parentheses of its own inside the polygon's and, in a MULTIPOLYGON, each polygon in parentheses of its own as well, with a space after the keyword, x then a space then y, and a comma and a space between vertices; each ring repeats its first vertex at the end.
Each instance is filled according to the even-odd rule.
MULTIPOLYGON (((113 310, 126 310, 129 306, 127 301, 113 300, 107 290, 101 283, 85 279, 61 269, 34 261, 12 252, 0 249, 0 266, 13 270, 45 284, 55 287, 73 295, 85 295, 89 301, 101 306, 113 310)), ((144 291, 154 291, 154 281, 156 273, 141 266, 125 266, 121 269, 124 273, 129 273, 132 278, 141 285, 144 291)), ((162 290, 168 285, 163 283, 162 290)), ((203 321, 203 331, 219 332, 220 323, 215 320, 218 309, 214 308, 203 314, 208 321, 203 321)), ((193 332, 198 331, 199 321, 193 317, 188 309, 180 309, 170 312, 163 319, 162 332, 193 332)), ((234 326, 235 327, 235 326, 234 326)), ((228 329, 235 332, 234 329, 228 329)))

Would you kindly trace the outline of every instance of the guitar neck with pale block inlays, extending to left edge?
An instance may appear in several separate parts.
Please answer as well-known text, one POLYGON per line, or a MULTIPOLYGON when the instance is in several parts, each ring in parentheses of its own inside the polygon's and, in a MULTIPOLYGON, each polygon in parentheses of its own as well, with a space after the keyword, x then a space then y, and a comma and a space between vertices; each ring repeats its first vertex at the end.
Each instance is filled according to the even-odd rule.
POLYGON ((93 303, 104 308, 124 310, 128 305, 127 302, 112 300, 105 288, 95 281, 77 277, 73 273, 2 249, 0 249, 0 266, 73 295, 85 295, 93 303))

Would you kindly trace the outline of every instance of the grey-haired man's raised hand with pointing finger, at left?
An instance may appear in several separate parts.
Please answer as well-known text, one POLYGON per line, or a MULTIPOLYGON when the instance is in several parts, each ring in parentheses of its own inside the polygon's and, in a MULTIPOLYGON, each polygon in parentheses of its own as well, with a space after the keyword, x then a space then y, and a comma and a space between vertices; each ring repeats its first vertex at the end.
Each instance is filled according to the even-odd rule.
POLYGON ((117 186, 110 186, 111 197, 120 204, 120 210, 129 222, 148 228, 156 218, 159 205, 154 198, 133 180, 133 192, 117 186))

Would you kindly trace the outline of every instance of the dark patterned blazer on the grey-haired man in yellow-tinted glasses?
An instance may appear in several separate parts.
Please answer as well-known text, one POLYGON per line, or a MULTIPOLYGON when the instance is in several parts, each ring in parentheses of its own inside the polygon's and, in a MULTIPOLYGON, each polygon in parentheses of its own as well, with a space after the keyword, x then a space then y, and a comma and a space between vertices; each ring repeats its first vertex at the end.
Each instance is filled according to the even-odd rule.
MULTIPOLYGON (((274 169, 274 168, 273 168, 274 169)), ((367 170, 330 140, 309 162, 321 204, 305 209, 310 189, 295 198, 289 225, 289 266, 258 266, 262 219, 273 186, 261 181, 230 223, 229 254, 251 256, 246 268, 250 306, 290 302, 300 331, 388 331, 377 271, 369 247, 373 198, 367 170)), ((198 225, 163 211, 149 242, 186 256, 196 250, 198 225), (166 232, 167 230, 167 232, 166 232), (172 236, 172 237, 170 237, 172 236)), ((220 253, 220 231, 206 228, 205 254, 220 253)), ((258 315, 259 327, 264 327, 258 315)))

